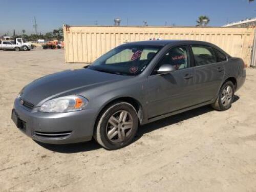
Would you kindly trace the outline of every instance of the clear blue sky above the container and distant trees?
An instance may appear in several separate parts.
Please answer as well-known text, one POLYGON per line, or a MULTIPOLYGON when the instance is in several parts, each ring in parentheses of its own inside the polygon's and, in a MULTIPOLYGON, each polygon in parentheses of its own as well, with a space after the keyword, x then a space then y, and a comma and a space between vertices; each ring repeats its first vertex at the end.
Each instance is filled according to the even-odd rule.
POLYGON ((0 35, 46 33, 67 25, 113 25, 121 18, 121 25, 195 26, 200 15, 210 18, 209 26, 223 26, 247 17, 256 17, 256 1, 248 0, 0 0, 0 35))

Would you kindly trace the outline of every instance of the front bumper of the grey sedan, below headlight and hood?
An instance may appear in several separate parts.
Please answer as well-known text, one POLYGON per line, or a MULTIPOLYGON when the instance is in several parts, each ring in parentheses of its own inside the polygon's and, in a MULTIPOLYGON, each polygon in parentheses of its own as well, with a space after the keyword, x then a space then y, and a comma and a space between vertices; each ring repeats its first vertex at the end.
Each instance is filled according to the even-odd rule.
POLYGON ((51 144, 89 141, 93 136, 97 110, 68 113, 42 113, 28 109, 15 99, 12 120, 20 131, 32 139, 51 144))

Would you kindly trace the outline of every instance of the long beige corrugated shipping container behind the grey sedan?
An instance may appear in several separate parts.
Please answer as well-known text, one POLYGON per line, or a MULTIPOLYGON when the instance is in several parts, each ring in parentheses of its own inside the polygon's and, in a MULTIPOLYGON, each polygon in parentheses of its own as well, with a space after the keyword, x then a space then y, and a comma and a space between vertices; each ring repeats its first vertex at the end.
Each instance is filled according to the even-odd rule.
POLYGON ((211 42, 231 56, 251 63, 254 29, 198 27, 114 27, 64 26, 66 62, 90 63, 125 42, 161 39, 189 39, 211 42))

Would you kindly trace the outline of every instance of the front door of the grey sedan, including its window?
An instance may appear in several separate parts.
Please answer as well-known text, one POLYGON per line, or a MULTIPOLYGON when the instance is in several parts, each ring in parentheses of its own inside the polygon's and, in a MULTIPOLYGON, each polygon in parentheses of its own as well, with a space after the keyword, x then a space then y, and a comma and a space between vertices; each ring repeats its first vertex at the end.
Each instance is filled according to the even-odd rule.
POLYGON ((178 46, 164 54, 147 80, 148 118, 175 112, 196 103, 195 69, 190 67, 188 46, 178 46), (162 65, 176 71, 157 74, 162 65))

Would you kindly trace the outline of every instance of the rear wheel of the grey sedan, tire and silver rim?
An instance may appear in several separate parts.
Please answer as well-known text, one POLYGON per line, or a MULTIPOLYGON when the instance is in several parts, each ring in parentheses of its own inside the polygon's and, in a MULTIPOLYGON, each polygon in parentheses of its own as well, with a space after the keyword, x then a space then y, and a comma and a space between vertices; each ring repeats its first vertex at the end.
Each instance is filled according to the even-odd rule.
POLYGON ((211 104, 212 108, 218 111, 226 111, 231 108, 234 98, 234 84, 231 81, 226 81, 222 85, 218 98, 211 104))

